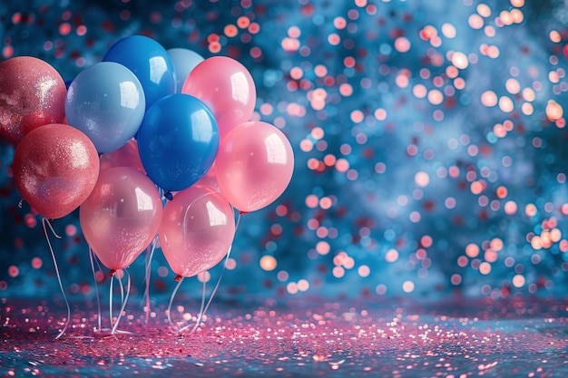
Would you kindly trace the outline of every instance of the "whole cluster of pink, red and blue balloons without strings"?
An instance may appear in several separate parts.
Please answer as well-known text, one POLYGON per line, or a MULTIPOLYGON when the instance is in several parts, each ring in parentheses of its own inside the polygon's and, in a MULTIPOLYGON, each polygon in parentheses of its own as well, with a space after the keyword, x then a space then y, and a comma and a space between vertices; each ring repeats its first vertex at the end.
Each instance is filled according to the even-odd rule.
POLYGON ((255 102, 236 60, 141 35, 68 89, 40 59, 0 63, 0 135, 16 145, 17 189, 44 218, 80 208, 83 236, 113 271, 159 235, 172 271, 195 276, 228 253, 234 209, 279 198, 293 151, 278 128, 250 121, 255 102))

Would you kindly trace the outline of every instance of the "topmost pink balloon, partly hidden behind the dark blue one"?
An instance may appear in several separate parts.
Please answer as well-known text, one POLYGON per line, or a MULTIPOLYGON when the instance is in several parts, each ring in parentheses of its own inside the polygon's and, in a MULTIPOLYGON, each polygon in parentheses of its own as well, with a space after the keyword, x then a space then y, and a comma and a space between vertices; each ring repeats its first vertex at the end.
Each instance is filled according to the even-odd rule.
POLYGON ((199 63, 183 83, 181 92, 209 106, 219 125, 221 140, 230 129, 250 120, 257 101, 249 71, 226 56, 213 56, 199 63))

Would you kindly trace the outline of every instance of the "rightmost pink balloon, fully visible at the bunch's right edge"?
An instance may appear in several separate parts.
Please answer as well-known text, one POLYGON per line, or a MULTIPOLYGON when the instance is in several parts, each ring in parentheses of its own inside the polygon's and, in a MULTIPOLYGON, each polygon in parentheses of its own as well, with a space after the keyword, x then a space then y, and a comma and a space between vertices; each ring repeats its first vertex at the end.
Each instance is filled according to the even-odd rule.
POLYGON ((220 192, 240 211, 265 208, 288 187, 294 152, 288 138, 262 121, 245 122, 221 141, 215 160, 220 192))

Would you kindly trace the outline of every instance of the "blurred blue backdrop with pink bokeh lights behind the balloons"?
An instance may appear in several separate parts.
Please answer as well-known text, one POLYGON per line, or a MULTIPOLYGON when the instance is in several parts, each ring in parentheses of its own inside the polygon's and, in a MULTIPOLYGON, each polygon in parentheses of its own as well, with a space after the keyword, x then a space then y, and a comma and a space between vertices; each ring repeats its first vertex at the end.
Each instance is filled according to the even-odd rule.
MULTIPOLYGON (((560 297, 567 22, 562 0, 25 0, 0 4, 0 47, 66 81, 132 34, 249 69, 255 118, 289 137, 296 167, 241 218, 220 300, 560 297)), ((0 297, 61 296, 13 154, 0 141, 0 297)), ((78 211, 54 229, 65 291, 93 298, 78 211)), ((130 272, 142 296, 143 255, 130 272)), ((174 276, 157 250, 152 300, 174 276)))

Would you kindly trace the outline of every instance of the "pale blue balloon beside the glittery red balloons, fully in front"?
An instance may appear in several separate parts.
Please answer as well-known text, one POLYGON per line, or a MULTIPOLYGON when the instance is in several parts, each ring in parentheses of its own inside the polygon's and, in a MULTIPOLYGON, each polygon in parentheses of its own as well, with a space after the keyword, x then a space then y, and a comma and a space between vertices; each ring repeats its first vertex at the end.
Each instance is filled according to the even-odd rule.
POLYGON ((138 131, 145 110, 142 84, 122 64, 101 62, 79 73, 65 99, 65 116, 101 152, 118 150, 138 131))

